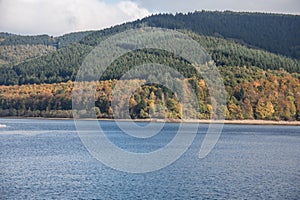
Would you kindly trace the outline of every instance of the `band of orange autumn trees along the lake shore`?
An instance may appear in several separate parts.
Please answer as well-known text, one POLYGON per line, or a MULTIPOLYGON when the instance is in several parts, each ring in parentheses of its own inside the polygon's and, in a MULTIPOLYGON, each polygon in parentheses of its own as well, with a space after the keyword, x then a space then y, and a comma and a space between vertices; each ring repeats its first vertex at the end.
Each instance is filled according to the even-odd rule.
MULTIPOLYGON (((252 67, 221 68, 227 90, 226 119, 300 120, 299 75, 285 71, 264 71, 252 67)), ((198 111, 189 117, 210 119, 213 116, 209 90, 203 79, 189 79, 198 100, 198 111)), ((144 83, 144 80, 121 80, 122 85, 144 83)), ((98 118, 112 118, 112 92, 117 80, 83 82, 80 87, 96 86, 95 111, 98 118)), ((143 84, 142 84, 143 85, 143 84)), ((28 117, 72 117, 74 83, 0 86, 0 115, 28 117)), ((74 91, 76 92, 76 91, 74 91)), ((82 96, 77 101, 88 99, 82 96)), ((119 99, 123 105, 125 99, 119 99)), ((129 100, 132 118, 181 118, 182 104, 176 94, 158 85, 137 87, 129 100), (153 116, 152 116, 153 117, 153 116)), ((122 107, 122 106, 121 106, 122 107)), ((81 114, 86 110, 78 111, 81 114)), ((121 116, 122 117, 122 116, 121 116)))

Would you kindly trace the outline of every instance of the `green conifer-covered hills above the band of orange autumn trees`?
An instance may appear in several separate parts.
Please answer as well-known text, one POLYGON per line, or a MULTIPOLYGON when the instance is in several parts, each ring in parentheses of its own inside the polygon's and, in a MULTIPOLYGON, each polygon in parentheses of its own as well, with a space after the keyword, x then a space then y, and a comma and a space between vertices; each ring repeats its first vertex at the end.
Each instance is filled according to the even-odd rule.
MULTIPOLYGON (((217 66, 256 66, 300 73, 300 16, 201 11, 158 14, 104 30, 60 37, 0 33, 0 85, 74 80, 84 57, 99 42, 145 26, 187 33, 199 41, 217 66)), ((152 56, 159 60, 155 53, 152 56)), ((126 68, 126 59, 117 65, 108 72, 107 79, 120 77, 120 66, 126 68)))

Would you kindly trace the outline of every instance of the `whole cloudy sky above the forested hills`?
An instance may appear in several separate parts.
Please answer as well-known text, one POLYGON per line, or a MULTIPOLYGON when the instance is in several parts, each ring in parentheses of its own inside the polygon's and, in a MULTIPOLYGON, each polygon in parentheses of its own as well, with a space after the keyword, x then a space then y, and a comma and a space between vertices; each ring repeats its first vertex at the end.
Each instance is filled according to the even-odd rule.
POLYGON ((153 13, 232 10, 300 14, 300 0, 0 0, 0 32, 63 35, 153 13))

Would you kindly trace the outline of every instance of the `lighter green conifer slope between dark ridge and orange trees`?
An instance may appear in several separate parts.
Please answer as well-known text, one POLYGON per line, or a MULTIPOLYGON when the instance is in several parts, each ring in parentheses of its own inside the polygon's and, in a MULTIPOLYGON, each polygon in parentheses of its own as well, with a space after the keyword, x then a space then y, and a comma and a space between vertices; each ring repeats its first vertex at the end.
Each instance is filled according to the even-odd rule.
MULTIPOLYGON (((248 48, 232 40, 201 36, 189 31, 184 32, 198 41, 208 51, 217 66, 257 66, 265 70, 279 70, 282 68, 288 72, 300 73, 299 60, 276 55, 264 50, 248 48)), ((14 66, 0 67, 0 84, 59 83, 75 80, 77 70, 92 48, 92 46, 84 44, 84 42, 73 43, 42 57, 26 60, 14 66)), ((105 74, 104 79, 120 78, 129 69, 126 66, 132 66, 130 65, 132 58, 135 58, 136 63, 142 64, 145 56, 149 56, 147 55, 148 53, 136 52, 135 57, 125 55, 125 58, 114 63, 110 68, 111 70, 108 70, 105 74)), ((165 60, 163 56, 157 56, 159 54, 159 52, 150 53, 152 56, 151 59, 158 63, 171 64, 177 67, 177 69, 187 65, 187 63, 178 64, 177 61, 170 59, 165 62, 163 61, 165 60)), ((193 76, 193 72, 188 76, 193 76)))

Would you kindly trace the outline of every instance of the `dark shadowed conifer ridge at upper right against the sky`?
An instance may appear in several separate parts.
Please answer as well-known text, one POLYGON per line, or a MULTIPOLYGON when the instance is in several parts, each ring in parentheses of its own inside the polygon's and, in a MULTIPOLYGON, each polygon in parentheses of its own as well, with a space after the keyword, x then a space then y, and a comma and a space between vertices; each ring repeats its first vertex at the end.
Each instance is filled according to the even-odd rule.
POLYGON ((295 15, 194 12, 159 14, 142 20, 149 26, 188 29, 200 35, 234 39, 293 58, 300 58, 300 17, 295 15))

